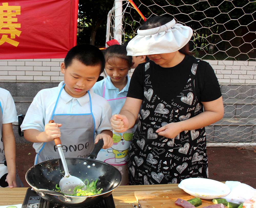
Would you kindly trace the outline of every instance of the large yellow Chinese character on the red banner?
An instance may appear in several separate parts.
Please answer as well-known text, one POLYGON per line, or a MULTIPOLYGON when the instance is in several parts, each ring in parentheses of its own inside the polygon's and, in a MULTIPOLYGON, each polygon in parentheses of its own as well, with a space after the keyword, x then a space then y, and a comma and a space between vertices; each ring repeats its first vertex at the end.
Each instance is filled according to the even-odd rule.
POLYGON ((20 6, 8 6, 8 3, 2 3, 3 6, 0 6, 0 45, 7 42, 15 47, 18 46, 19 42, 15 41, 15 36, 19 36, 21 31, 16 28, 20 28, 18 18, 16 15, 20 15, 20 6), (9 37, 8 37, 8 34, 9 37), (2 37, 1 37, 2 35, 2 37))

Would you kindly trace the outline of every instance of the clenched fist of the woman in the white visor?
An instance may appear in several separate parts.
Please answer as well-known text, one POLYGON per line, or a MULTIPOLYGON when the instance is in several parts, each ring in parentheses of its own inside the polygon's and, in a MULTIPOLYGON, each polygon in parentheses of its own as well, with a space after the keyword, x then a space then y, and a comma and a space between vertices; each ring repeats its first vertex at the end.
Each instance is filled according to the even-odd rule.
POLYGON ((125 132, 129 127, 129 120, 125 115, 115 114, 112 115, 110 124, 115 132, 125 132))

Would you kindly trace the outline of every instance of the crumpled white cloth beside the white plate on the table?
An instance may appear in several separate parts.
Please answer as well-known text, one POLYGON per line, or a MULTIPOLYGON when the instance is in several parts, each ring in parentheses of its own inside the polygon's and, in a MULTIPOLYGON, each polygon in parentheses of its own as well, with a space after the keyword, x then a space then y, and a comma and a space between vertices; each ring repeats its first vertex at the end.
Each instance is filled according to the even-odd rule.
POLYGON ((225 184, 231 189, 226 197, 228 202, 243 203, 244 201, 256 196, 256 189, 239 181, 226 181, 225 184))

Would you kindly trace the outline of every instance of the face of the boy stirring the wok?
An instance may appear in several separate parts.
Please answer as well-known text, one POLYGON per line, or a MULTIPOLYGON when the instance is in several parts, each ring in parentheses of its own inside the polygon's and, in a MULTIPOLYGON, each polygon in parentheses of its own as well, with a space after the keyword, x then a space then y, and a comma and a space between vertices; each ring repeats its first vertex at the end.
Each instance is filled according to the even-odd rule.
POLYGON ((74 98, 80 98, 91 89, 100 76, 101 65, 86 66, 82 62, 73 59, 66 68, 61 63, 61 73, 64 74, 65 91, 74 98))

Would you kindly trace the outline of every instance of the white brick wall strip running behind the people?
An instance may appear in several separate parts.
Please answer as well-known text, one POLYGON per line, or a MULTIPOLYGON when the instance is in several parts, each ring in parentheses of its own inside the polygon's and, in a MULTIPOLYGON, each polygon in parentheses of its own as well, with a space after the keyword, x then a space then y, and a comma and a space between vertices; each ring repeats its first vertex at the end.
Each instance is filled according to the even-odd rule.
MULTIPOLYGON (((60 64, 64 59, 0 60, 0 80, 61 81, 60 64)), ((256 84, 256 61, 209 62, 220 83, 256 84)), ((129 76, 132 75, 129 73, 129 76)))

